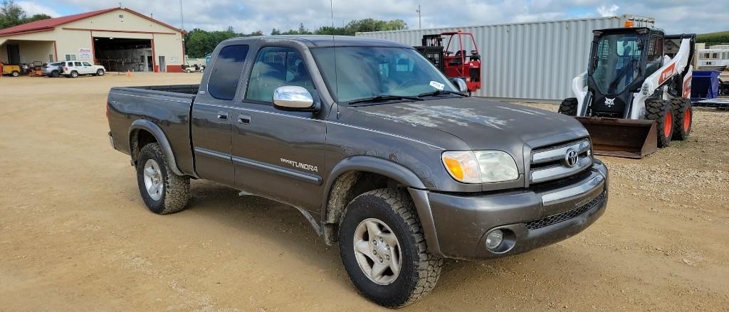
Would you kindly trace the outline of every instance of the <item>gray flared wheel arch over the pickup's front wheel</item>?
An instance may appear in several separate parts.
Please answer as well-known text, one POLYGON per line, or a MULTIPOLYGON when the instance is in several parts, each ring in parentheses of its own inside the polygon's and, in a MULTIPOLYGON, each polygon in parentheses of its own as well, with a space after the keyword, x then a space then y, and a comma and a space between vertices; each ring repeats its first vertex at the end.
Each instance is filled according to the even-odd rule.
POLYGON ((339 222, 346 205, 354 197, 376 188, 404 187, 415 204, 429 251, 442 254, 427 199, 428 191, 407 167, 374 156, 352 156, 336 164, 326 181, 321 204, 321 228, 326 244, 331 246, 337 241, 339 222), (384 184, 380 179, 385 180, 384 184))

